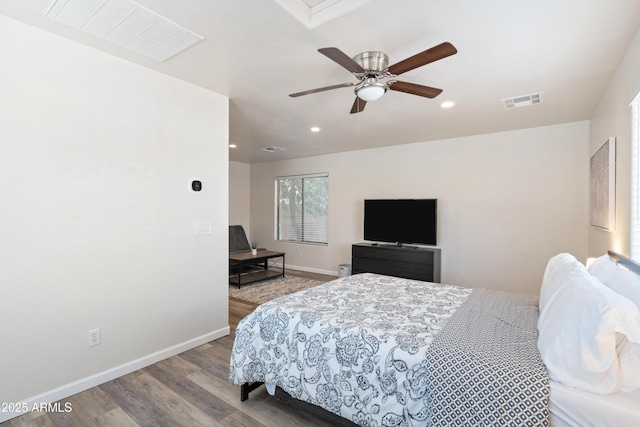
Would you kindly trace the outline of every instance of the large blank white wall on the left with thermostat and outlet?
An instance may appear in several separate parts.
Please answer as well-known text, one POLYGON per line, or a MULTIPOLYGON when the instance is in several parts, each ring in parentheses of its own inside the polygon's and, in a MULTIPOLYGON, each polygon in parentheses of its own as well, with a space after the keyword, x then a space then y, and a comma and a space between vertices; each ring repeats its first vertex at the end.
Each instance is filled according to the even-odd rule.
POLYGON ((228 99, 2 16, 0 39, 0 402, 228 334, 228 99))

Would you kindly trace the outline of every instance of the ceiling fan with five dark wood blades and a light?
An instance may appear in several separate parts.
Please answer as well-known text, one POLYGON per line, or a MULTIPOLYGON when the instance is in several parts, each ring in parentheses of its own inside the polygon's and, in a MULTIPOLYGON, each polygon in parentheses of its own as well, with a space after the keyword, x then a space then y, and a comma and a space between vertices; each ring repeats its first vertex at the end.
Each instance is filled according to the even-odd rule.
POLYGON ((407 71, 411 71, 414 68, 422 67, 423 65, 454 55, 458 51, 451 43, 444 42, 390 67, 389 57, 383 52, 362 52, 353 58, 350 58, 337 47, 325 47, 318 49, 318 52, 353 73, 353 75, 358 79, 358 82, 342 83, 305 90, 304 92, 292 93, 289 96, 295 98, 298 96, 323 92, 325 90, 355 86, 354 92, 356 93, 356 100, 353 103, 353 107, 351 107, 351 114, 354 114, 364 110, 368 101, 375 101, 376 99, 379 99, 389 89, 409 93, 411 95, 424 96, 425 98, 435 98, 440 95, 442 89, 415 83, 401 82, 393 80, 393 78, 402 73, 406 73, 407 71), (390 80, 384 81, 385 79, 390 80))

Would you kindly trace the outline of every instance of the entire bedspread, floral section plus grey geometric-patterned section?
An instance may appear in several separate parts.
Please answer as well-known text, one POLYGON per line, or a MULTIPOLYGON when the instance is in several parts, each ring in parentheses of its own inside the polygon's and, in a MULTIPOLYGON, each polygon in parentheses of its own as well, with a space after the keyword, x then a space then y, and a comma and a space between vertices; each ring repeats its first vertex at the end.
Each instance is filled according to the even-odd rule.
POLYGON ((362 426, 546 426, 537 318, 528 295, 359 274, 244 318, 229 380, 362 426))

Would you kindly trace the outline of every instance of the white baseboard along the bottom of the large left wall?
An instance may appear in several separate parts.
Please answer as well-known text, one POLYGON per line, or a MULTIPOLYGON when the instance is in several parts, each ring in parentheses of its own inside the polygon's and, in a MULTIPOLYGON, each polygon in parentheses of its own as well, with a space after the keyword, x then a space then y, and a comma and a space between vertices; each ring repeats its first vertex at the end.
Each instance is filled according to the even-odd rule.
MULTIPOLYGON (((172 347, 165 348, 163 350, 157 351, 136 360, 132 360, 131 362, 127 362, 120 366, 115 366, 111 369, 107 369, 106 371, 99 372, 95 375, 91 375, 89 377, 74 381, 53 390, 46 391, 37 396, 30 397, 21 401, 16 406, 19 408, 28 408, 28 411, 26 412, 30 412, 32 408, 37 408, 40 407, 40 405, 54 403, 66 397, 73 396, 74 394, 88 390, 100 384, 104 384, 123 375, 130 374, 131 372, 137 371, 138 369, 153 365, 154 363, 161 360, 183 353, 187 350, 191 350, 192 348, 208 343, 209 341, 217 340, 218 338, 227 336, 230 332, 231 329, 227 325, 224 328, 209 332, 208 334, 201 335, 189 341, 185 341, 172 347)), ((0 412, 0 423, 18 417, 20 415, 24 415, 26 412, 0 412)))

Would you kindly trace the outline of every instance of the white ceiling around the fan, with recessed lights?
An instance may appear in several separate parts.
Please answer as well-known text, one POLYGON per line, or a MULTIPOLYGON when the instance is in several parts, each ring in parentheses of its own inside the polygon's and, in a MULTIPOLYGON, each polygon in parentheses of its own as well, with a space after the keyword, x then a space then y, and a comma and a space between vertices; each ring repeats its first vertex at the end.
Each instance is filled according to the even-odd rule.
POLYGON ((205 40, 157 62, 45 18, 51 0, 0 0, 0 13, 228 96, 229 159, 246 163, 587 120, 640 25, 638 0, 137 3, 205 40), (319 48, 380 50, 394 64, 443 41, 458 53, 402 75, 443 89, 435 99, 389 91, 351 115, 352 88, 288 96, 356 81, 319 48), (534 93, 542 103, 501 102, 534 93))

